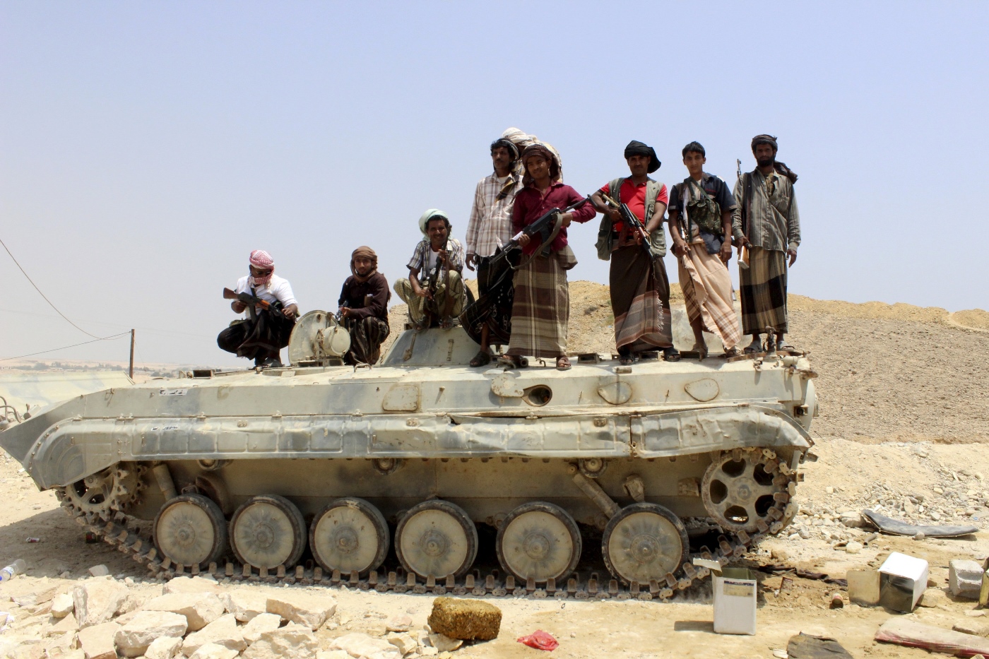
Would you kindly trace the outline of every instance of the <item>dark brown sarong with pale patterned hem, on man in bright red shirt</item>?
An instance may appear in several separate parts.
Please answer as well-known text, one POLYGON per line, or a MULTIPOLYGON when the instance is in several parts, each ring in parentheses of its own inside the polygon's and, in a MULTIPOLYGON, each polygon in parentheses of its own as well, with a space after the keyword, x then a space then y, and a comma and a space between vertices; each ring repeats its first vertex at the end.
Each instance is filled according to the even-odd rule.
POLYGON ((608 283, 619 349, 639 352, 674 344, 670 280, 662 258, 650 258, 642 245, 617 247, 611 252, 608 283))

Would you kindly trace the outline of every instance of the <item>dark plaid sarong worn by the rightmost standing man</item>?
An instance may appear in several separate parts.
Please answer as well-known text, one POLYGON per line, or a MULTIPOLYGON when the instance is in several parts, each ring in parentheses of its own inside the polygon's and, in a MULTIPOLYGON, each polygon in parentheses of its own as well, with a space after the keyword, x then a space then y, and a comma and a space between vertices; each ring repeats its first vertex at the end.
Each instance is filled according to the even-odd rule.
POLYGON ((786 252, 749 245, 749 269, 739 268, 742 331, 786 333, 786 252))

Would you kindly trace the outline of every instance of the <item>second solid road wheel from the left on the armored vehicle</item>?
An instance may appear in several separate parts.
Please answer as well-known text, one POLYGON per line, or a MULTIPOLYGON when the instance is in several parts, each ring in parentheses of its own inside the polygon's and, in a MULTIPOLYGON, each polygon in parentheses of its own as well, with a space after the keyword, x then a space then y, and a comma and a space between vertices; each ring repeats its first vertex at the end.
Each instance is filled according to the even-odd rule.
POLYGON ((306 549, 306 520, 285 497, 251 497, 230 518, 230 547, 245 565, 295 567, 306 549))

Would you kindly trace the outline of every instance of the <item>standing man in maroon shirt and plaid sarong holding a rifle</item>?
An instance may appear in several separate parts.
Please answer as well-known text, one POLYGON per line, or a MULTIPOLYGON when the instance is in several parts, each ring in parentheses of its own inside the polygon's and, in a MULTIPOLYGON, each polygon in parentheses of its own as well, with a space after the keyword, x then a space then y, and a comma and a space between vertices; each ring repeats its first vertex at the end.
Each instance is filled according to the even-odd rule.
MULTIPOLYGON (((567 208, 583 199, 560 182, 560 162, 553 152, 536 142, 522 153, 525 176, 511 212, 512 230, 521 232, 548 211, 567 208)), ((596 215, 584 204, 560 218, 560 232, 549 244, 538 237, 521 235, 522 265, 515 271, 515 298, 511 306, 511 337, 507 357, 518 366, 520 357, 556 358, 557 368, 571 367, 567 358, 567 324, 570 321, 570 288, 567 270, 577 265, 577 256, 567 243, 571 222, 587 222, 596 215)))

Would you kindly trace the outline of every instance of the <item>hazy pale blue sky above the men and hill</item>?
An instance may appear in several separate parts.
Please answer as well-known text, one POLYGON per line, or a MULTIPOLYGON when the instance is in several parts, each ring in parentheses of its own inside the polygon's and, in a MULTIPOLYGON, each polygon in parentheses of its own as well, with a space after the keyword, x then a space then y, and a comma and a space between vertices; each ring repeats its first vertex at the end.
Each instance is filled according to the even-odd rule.
MULTIPOLYGON (((394 282, 426 209, 464 238, 508 127, 583 193, 630 140, 668 185, 694 140, 734 184, 769 133, 799 174, 791 293, 989 309, 961 248, 987 224, 987 24, 985 2, 3 1, 0 239, 82 329, 135 328, 138 365, 245 366, 216 334, 251 249, 335 311, 356 246, 394 282)), ((596 230, 570 232, 572 280, 607 282, 596 230)), ((0 358, 91 340, 2 250, 0 280, 0 358)))

